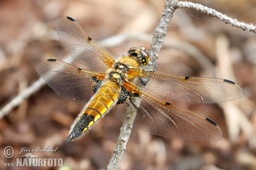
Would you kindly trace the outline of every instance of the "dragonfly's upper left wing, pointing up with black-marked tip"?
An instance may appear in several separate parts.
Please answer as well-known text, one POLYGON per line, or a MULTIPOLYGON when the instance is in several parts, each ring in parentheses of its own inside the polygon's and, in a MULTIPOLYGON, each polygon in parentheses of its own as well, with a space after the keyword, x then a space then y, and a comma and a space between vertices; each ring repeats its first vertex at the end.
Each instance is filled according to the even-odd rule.
POLYGON ((115 63, 112 55, 94 41, 73 18, 59 18, 55 22, 55 28, 64 48, 82 65, 99 71, 107 70, 115 63))

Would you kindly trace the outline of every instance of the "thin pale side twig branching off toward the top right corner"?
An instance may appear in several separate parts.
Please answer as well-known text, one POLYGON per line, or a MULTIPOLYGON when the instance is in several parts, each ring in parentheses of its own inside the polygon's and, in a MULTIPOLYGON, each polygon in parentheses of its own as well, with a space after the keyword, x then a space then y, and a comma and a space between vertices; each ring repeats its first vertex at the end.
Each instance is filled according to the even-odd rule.
POLYGON ((216 11, 215 9, 208 8, 207 6, 203 6, 198 3, 192 3, 192 2, 182 2, 177 1, 176 8, 189 8, 189 9, 195 9, 199 12, 202 12, 204 14, 209 15, 210 17, 218 18, 219 20, 222 20, 226 24, 230 24, 231 26, 235 26, 237 28, 241 28, 242 30, 252 31, 256 33, 256 26, 253 24, 246 24, 243 22, 239 22, 236 19, 232 19, 230 17, 227 17, 227 15, 221 14, 220 12, 216 11))

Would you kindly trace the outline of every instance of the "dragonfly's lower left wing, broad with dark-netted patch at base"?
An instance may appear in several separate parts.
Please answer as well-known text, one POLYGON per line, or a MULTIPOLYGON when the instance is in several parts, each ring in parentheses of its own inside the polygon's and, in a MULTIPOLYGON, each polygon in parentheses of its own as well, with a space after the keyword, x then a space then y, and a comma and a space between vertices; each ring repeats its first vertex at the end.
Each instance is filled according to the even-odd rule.
POLYGON ((56 59, 42 62, 37 71, 58 95, 79 104, 93 96, 94 80, 105 78, 105 73, 83 70, 56 59))

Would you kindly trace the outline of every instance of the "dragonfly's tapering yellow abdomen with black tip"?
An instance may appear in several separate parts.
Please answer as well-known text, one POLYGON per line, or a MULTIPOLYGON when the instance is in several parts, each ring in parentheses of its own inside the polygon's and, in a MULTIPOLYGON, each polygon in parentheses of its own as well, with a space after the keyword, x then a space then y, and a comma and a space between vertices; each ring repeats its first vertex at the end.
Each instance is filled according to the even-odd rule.
POLYGON ((71 126, 67 141, 85 133, 100 117, 108 113, 111 106, 119 97, 121 88, 115 82, 106 82, 84 107, 71 126))

